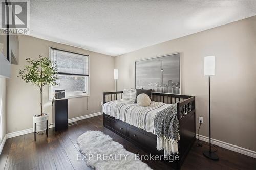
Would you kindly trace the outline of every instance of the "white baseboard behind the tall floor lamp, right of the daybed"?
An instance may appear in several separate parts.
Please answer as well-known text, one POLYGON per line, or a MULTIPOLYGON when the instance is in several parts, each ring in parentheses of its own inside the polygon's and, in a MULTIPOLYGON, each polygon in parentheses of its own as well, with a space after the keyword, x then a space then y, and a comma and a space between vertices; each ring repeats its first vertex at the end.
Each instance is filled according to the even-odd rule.
MULTIPOLYGON (((198 136, 198 134, 196 134, 196 136, 198 136)), ((209 143, 209 137, 199 135, 199 139, 209 143)), ((238 152, 240 154, 244 154, 244 155, 256 158, 256 152, 255 151, 248 150, 246 148, 242 148, 242 147, 239 147, 237 145, 233 145, 233 144, 226 143, 226 142, 216 140, 216 139, 212 139, 212 138, 211 138, 211 143, 215 144, 219 147, 222 147, 222 148, 234 151, 234 152, 238 152)))

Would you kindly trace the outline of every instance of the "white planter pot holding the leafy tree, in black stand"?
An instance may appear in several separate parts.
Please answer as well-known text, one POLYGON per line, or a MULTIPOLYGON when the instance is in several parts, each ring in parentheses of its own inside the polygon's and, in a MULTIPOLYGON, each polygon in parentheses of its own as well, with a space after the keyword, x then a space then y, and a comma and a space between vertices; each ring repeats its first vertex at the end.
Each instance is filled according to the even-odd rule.
POLYGON ((33 116, 33 132, 35 132, 35 123, 36 123, 36 132, 44 131, 47 129, 46 121, 48 120, 48 114, 34 115, 33 116))

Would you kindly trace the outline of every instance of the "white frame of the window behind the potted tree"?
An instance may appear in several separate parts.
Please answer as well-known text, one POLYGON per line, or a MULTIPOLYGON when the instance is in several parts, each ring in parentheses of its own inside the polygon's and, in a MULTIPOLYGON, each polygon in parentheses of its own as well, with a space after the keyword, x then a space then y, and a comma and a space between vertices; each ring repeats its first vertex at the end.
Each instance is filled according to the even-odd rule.
MULTIPOLYGON (((60 48, 54 48, 54 47, 49 47, 49 56, 50 56, 50 59, 54 62, 54 58, 53 56, 51 55, 51 50, 59 50, 59 51, 63 51, 63 52, 67 52, 67 53, 74 53, 74 54, 78 54, 78 55, 83 55, 83 56, 86 56, 88 57, 88 75, 87 74, 72 74, 72 73, 66 73, 66 72, 58 72, 58 75, 60 76, 81 76, 81 77, 84 77, 85 79, 87 79, 87 93, 84 93, 84 94, 70 94, 70 95, 66 95, 67 93, 65 92, 65 98, 82 98, 82 97, 88 97, 90 96, 90 56, 87 55, 87 54, 80 54, 80 53, 76 53, 76 52, 72 52, 72 51, 67 51, 67 50, 62 50, 60 48)), ((52 100, 54 96, 54 93, 53 93, 53 86, 49 85, 49 100, 52 100)))

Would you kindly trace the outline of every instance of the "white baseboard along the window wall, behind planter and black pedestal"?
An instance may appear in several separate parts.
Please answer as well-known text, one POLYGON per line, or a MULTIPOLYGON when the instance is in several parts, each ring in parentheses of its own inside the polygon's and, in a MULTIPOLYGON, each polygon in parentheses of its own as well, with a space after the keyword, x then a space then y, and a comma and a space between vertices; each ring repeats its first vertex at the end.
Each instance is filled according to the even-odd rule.
MULTIPOLYGON (((71 118, 71 119, 68 120, 68 123, 77 122, 79 120, 99 116, 99 115, 102 115, 102 114, 103 114, 103 112, 98 112, 98 113, 93 113, 93 114, 89 114, 89 115, 84 115, 84 116, 80 116, 80 117, 71 118)), ((54 124, 49 126, 49 128, 53 128, 53 127, 54 127, 54 124)), ((25 129, 25 130, 21 130, 21 131, 17 131, 17 132, 7 133, 6 137, 7 137, 7 139, 9 139, 9 138, 12 138, 12 137, 25 135, 25 134, 32 133, 32 132, 33 132, 33 128, 29 128, 29 129, 25 129)))

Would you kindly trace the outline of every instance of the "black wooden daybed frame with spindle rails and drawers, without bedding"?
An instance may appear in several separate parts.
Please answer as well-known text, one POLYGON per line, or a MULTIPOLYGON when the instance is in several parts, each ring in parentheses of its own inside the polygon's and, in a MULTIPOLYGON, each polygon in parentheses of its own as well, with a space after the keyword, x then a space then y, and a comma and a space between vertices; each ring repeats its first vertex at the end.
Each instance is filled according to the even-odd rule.
MULTIPOLYGON (((122 91, 104 92, 103 104, 109 101, 122 99, 122 91)), ((195 96, 166 94, 152 92, 152 101, 174 104, 177 103, 177 117, 179 120, 180 140, 178 141, 179 160, 164 161, 174 169, 180 169, 185 157, 191 149, 196 136, 195 96)), ((135 144, 147 153, 163 155, 163 151, 156 149, 157 136, 129 125, 121 120, 103 113, 104 127, 115 132, 124 139, 135 144)))

